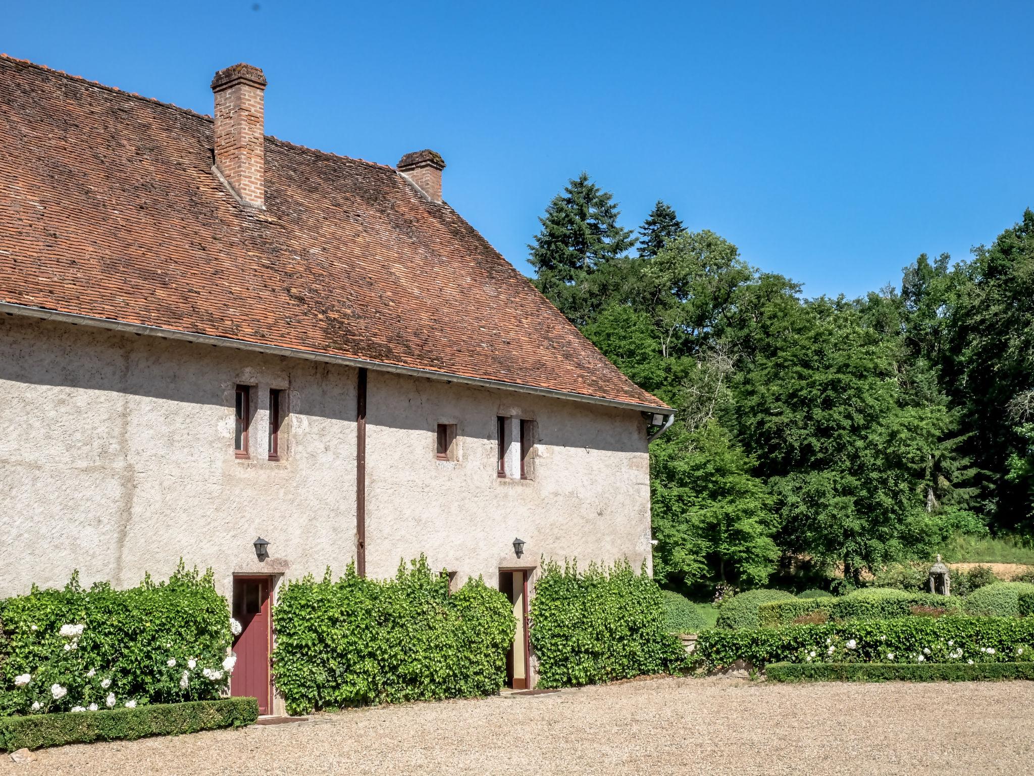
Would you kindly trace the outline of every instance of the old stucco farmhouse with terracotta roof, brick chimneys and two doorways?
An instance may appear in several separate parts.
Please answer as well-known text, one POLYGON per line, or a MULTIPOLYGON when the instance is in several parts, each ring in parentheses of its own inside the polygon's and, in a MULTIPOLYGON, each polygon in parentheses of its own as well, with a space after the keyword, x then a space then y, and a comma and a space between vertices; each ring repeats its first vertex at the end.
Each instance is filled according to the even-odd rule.
POLYGON ((214 118, 0 58, 0 596, 212 567, 234 693, 277 708, 276 586, 425 554, 514 604, 540 559, 650 562, 627 380, 445 201, 264 135, 263 71, 214 118))

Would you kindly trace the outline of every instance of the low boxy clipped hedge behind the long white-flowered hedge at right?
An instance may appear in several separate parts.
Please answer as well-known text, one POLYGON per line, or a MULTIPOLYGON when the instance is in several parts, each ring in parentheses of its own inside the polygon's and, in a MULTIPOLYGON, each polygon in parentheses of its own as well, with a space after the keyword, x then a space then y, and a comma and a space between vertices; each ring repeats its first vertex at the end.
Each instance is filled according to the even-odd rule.
POLYGON ((907 593, 891 588, 856 590, 841 598, 794 598, 758 607, 761 627, 789 625, 798 617, 822 611, 830 620, 890 620, 908 617, 916 606, 962 614, 959 598, 933 593, 907 593))

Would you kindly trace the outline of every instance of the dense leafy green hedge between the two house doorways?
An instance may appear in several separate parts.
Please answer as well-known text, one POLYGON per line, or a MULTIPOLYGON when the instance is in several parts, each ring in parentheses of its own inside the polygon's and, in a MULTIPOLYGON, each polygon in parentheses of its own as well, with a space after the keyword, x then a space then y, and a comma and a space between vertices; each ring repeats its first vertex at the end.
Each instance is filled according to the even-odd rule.
POLYGON ((273 674, 292 714, 493 694, 506 682, 513 607, 480 578, 449 594, 421 557, 394 579, 349 565, 287 583, 273 609, 273 674))

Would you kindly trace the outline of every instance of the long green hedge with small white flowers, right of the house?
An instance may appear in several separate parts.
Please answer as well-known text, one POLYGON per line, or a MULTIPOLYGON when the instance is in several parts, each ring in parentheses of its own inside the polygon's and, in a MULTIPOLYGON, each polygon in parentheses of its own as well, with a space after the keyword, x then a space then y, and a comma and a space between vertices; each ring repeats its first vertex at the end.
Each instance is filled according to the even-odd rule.
POLYGON ((759 667, 778 662, 1026 662, 1034 658, 1032 645, 1034 618, 905 617, 716 628, 700 633, 693 654, 696 665, 707 669, 736 660, 759 667))

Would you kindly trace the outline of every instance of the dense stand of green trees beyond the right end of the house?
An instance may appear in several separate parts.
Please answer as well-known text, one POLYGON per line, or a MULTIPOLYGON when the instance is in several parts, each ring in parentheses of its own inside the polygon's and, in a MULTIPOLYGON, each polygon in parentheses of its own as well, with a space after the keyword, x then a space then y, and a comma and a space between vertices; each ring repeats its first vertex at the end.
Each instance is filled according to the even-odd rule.
POLYGON ((779 559, 864 570, 1034 526, 1034 213, 900 290, 808 299, 658 203, 639 248, 582 174, 535 283, 676 410, 650 445, 655 569, 761 587, 779 559))

